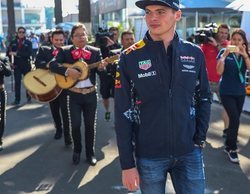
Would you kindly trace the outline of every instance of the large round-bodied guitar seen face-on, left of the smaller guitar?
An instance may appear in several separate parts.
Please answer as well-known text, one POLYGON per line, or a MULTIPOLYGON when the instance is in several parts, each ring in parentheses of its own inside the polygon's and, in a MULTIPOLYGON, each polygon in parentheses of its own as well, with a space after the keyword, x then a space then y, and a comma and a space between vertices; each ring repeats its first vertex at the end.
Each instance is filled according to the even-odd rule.
POLYGON ((39 102, 50 102, 62 91, 56 83, 54 73, 46 69, 30 71, 24 76, 23 83, 30 96, 39 102))

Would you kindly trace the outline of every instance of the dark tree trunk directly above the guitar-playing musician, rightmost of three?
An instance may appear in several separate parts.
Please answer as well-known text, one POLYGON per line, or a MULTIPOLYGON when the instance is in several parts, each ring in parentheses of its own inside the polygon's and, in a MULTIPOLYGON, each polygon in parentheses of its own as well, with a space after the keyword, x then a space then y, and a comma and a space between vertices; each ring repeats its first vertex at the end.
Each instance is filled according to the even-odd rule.
POLYGON ((90 0, 79 0, 79 22, 90 23, 90 0))

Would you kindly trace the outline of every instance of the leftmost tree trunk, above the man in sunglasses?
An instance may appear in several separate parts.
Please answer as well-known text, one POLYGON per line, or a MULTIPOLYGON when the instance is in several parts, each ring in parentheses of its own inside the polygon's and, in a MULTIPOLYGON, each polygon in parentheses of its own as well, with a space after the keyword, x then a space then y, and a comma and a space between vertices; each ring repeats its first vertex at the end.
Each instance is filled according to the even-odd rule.
POLYGON ((14 0, 7 0, 7 13, 8 13, 8 41, 11 41, 16 33, 14 0))

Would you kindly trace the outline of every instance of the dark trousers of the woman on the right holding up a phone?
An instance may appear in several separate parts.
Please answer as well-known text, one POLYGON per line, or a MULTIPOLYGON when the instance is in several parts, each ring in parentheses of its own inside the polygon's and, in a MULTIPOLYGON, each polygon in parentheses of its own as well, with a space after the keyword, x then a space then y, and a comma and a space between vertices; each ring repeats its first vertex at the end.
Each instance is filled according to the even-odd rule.
POLYGON ((231 96, 221 95, 221 102, 229 117, 229 127, 225 145, 231 149, 237 149, 237 136, 240 125, 240 114, 243 109, 245 95, 231 96))

